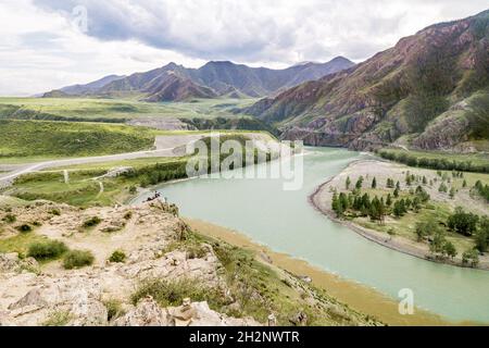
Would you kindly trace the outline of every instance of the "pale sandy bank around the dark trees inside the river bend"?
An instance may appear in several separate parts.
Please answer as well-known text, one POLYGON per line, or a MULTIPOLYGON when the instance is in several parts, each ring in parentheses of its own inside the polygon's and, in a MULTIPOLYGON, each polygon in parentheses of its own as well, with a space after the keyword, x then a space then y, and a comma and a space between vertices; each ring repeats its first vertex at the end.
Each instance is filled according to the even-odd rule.
MULTIPOLYGON (((341 190, 341 188, 344 186, 344 183, 348 177, 351 178, 352 183, 355 183, 358 177, 360 175, 363 175, 367 179, 372 179, 375 177, 378 183, 383 183, 379 185, 384 185, 384 183, 387 181, 387 178, 393 178, 394 182, 403 182, 406 172, 410 171, 410 173, 419 175, 419 176, 426 176, 431 177, 436 176, 436 172, 429 171, 429 170, 418 170, 418 169, 412 169, 408 167, 405 165, 396 164, 391 162, 386 161, 378 161, 378 160, 360 160, 350 163, 341 173, 338 175, 329 178, 326 183, 317 187, 317 189, 310 196, 309 200, 310 203, 319 212, 328 216, 331 221, 339 223, 362 237, 377 243, 384 247, 390 248, 392 250, 403 252, 423 260, 438 262, 438 263, 447 263, 455 266, 464 266, 462 264, 461 257, 455 258, 453 260, 450 259, 436 259, 430 254, 429 246, 428 244, 422 244, 417 243, 414 239, 411 239, 406 236, 389 236, 385 232, 375 231, 372 228, 367 228, 365 226, 362 226, 355 222, 338 219, 337 214, 331 209, 331 200, 333 200, 333 191, 341 190)), ((366 185, 369 185, 367 183, 366 185)), ((408 187, 402 187, 402 189, 406 189, 408 187)), ((428 194, 431 196, 431 199, 434 199, 437 202, 442 202, 448 204, 451 209, 454 209, 455 206, 462 206, 464 208, 469 207, 469 210, 474 213, 485 213, 487 208, 485 207, 484 202, 475 201, 469 197, 469 190, 465 189, 464 191, 461 190, 460 195, 457 196, 456 200, 449 199, 448 195, 440 194, 436 187, 427 187, 426 188, 428 194), (447 196, 447 197, 446 197, 447 196)), ((389 226, 389 221, 394 221, 393 219, 388 217, 388 221, 386 222, 386 225, 389 226)), ((414 228, 414 226, 411 226, 414 228)), ((459 252, 459 256, 462 252, 459 252)), ((489 270, 489 258, 487 256, 484 256, 480 258, 479 264, 477 265, 477 269, 480 270, 489 270)))

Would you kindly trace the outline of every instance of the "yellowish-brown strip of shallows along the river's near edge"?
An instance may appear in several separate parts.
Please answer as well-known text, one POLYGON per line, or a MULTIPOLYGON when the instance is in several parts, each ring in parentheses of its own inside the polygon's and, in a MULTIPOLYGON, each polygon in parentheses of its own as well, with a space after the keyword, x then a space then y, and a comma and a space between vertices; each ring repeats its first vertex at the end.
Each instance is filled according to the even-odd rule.
MULTIPOLYGON (((325 289, 337 300, 348 303, 352 309, 375 316, 381 322, 393 326, 446 326, 448 322, 439 315, 416 309, 413 315, 399 314, 399 303, 393 299, 359 283, 346 281, 335 274, 323 271, 288 254, 275 252, 269 248, 252 241, 247 236, 229 228, 221 227, 208 222, 184 219, 195 231, 212 238, 221 239, 239 248, 254 251, 268 265, 290 272, 296 276, 311 278, 312 284, 325 289)), ((471 323, 457 323, 461 325, 471 323)))

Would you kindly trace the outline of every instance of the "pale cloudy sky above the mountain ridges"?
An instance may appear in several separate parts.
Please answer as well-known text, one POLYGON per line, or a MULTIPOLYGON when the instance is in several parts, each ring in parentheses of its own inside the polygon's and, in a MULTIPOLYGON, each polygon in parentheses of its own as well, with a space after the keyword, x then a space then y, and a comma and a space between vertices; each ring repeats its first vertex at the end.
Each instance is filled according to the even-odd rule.
POLYGON ((487 0, 2 0, 0 96, 226 60, 355 62, 487 0))

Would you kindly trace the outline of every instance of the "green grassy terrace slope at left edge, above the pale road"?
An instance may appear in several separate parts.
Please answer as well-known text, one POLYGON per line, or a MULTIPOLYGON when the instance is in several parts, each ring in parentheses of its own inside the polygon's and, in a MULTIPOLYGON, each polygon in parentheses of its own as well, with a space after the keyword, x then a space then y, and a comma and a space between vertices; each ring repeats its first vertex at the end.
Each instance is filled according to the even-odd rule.
POLYGON ((84 157, 150 149, 155 132, 109 124, 0 121, 0 157, 84 157))

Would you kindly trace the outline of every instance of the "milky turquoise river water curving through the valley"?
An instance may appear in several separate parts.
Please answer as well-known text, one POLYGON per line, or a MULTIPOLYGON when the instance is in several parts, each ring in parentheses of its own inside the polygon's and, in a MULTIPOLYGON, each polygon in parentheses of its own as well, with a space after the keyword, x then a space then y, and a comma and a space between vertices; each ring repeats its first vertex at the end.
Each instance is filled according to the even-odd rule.
POLYGON ((283 182, 272 178, 198 178, 158 190, 184 216, 239 231, 393 299, 401 289, 412 289, 416 307, 449 321, 489 323, 488 271, 432 263, 381 247, 329 221, 309 203, 318 185, 364 157, 343 149, 306 148, 304 185, 296 191, 284 190, 283 182))

